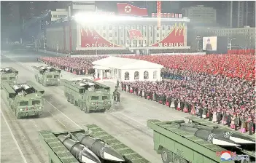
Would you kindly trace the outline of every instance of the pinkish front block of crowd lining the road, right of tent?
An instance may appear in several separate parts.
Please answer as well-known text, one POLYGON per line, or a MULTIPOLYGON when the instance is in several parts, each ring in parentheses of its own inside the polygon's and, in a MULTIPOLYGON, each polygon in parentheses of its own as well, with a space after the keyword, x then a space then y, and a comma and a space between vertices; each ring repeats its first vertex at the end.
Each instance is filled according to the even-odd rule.
POLYGON ((207 73, 174 73, 163 81, 122 82, 122 90, 241 132, 255 131, 255 81, 207 73))

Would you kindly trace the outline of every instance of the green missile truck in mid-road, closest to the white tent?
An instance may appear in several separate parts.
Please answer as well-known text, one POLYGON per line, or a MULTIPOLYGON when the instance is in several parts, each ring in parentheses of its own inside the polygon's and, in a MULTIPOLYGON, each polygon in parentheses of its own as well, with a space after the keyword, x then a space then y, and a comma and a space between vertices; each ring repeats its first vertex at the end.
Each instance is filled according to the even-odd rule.
POLYGON ((105 112, 111 108, 110 87, 90 79, 61 80, 67 100, 81 111, 105 112))

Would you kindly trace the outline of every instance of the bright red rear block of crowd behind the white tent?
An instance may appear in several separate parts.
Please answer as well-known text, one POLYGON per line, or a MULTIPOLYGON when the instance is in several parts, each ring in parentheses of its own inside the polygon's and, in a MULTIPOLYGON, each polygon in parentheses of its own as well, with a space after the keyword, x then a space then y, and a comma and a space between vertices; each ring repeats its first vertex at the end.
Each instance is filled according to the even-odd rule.
POLYGON ((221 74, 231 78, 255 80, 254 55, 126 55, 123 57, 163 65, 164 74, 179 70, 181 74, 221 74))

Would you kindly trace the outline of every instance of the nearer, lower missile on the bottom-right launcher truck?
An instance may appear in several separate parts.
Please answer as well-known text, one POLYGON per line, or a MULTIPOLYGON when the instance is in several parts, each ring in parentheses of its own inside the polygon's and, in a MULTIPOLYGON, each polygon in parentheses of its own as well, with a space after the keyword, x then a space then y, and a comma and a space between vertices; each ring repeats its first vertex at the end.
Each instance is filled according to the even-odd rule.
POLYGON ((219 135, 209 132, 208 130, 201 130, 201 129, 197 129, 193 127, 185 127, 185 126, 180 126, 179 129, 184 130, 185 132, 190 132, 196 137, 206 140, 207 142, 213 143, 217 146, 240 146, 236 142, 233 142, 232 140, 229 140, 227 138, 223 138, 219 135))

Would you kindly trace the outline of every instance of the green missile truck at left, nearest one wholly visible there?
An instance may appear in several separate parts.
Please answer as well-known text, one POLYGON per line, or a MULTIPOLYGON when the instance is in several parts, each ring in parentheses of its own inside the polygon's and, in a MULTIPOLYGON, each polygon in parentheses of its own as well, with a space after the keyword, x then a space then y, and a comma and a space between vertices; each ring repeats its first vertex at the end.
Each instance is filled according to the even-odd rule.
POLYGON ((4 82, 2 86, 7 95, 7 102, 17 119, 42 114, 44 90, 37 87, 32 81, 21 84, 4 82))

